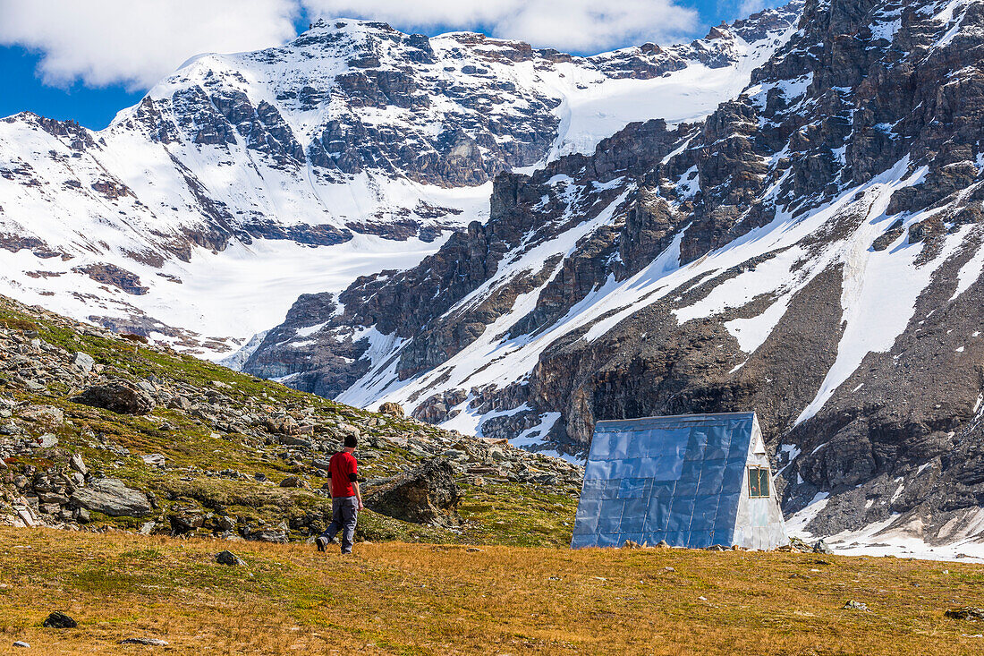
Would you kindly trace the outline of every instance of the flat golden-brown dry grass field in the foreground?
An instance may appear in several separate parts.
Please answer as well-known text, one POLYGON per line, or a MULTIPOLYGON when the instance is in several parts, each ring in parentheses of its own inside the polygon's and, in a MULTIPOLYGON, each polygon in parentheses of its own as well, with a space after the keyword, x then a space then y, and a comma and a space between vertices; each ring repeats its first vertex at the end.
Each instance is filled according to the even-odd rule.
POLYGON ((0 529, 0 653, 979 654, 984 566, 0 529), (247 561, 226 567, 231 547, 247 561), (472 551, 469 551, 472 550, 472 551), (666 569, 672 567, 673 570, 666 569), (949 570, 949 573, 945 573, 949 570), (702 599, 704 597, 704 599, 702 599), (848 599, 871 612, 841 610, 848 599), (41 627, 52 610, 76 629, 41 627), (168 647, 120 646, 154 636, 168 647))

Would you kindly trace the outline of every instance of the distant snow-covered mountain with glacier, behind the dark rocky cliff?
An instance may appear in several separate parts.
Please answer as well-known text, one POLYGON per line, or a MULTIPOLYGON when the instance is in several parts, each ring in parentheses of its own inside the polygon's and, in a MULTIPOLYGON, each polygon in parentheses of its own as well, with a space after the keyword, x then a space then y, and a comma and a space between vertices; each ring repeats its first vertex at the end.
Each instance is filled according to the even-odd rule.
POLYGON ((209 355, 298 294, 407 268, 488 218, 491 179, 631 121, 700 119, 796 7, 594 57, 476 33, 319 22, 202 55, 92 132, 0 121, 0 293, 209 355))

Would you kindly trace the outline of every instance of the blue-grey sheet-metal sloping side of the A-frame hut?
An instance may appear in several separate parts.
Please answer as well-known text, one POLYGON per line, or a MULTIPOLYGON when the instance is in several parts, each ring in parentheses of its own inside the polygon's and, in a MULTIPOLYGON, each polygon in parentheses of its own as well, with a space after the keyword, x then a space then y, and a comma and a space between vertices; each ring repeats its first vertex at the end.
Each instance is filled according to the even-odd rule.
POLYGON ((572 548, 733 544, 754 413, 598 422, 572 548))

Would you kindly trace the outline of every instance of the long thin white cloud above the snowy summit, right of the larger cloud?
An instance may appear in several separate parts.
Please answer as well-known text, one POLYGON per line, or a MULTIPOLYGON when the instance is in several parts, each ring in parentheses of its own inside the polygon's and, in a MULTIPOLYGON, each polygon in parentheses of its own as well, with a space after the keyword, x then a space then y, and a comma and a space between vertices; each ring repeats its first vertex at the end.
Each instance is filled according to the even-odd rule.
POLYGON ((596 52, 691 33, 698 15, 674 0, 300 0, 313 16, 386 21, 401 30, 468 30, 537 47, 596 52))

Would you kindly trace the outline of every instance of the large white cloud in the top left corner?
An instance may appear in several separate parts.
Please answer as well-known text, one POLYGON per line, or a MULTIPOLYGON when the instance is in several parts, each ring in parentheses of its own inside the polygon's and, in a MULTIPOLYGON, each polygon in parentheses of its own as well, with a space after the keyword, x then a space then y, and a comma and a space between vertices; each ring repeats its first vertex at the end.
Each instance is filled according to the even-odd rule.
POLYGON ((40 51, 45 84, 154 85, 190 56, 279 45, 295 0, 0 0, 0 44, 40 51))

